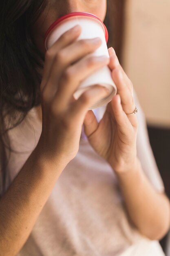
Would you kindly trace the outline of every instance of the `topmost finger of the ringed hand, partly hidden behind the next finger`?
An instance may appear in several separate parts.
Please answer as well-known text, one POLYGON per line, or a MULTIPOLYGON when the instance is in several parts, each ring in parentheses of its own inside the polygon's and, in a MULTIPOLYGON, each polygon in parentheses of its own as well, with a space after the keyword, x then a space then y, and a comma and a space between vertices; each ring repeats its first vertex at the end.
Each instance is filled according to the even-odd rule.
POLYGON ((110 56, 110 63, 108 64, 108 67, 110 68, 111 71, 113 71, 115 68, 119 67, 120 70, 122 71, 122 74, 124 76, 124 80, 126 81, 128 88, 130 90, 130 92, 132 93, 133 96, 133 86, 132 86, 132 82, 130 81, 130 79, 128 78, 127 74, 124 72, 124 69, 121 67, 119 60, 116 56, 115 50, 113 49, 113 47, 110 47, 108 49, 108 53, 110 56))

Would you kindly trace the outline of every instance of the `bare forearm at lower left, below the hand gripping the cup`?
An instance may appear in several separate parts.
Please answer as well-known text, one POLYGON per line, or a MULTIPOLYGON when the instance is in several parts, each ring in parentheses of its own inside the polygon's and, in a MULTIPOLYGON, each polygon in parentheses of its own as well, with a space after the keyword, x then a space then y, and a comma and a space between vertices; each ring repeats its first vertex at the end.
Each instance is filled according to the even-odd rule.
POLYGON ((0 256, 20 251, 63 168, 47 166, 36 150, 30 155, 0 200, 0 256))

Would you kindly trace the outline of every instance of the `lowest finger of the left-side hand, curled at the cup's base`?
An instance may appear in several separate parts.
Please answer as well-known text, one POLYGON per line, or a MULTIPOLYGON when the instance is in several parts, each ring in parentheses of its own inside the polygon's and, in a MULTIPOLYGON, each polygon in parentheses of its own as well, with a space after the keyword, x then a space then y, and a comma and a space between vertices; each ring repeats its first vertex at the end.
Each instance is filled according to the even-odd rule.
POLYGON ((69 111, 69 116, 75 121, 81 119, 83 124, 88 108, 95 102, 106 97, 106 95, 108 95, 108 92, 104 87, 99 85, 94 86, 91 90, 84 92, 79 99, 73 103, 69 111))

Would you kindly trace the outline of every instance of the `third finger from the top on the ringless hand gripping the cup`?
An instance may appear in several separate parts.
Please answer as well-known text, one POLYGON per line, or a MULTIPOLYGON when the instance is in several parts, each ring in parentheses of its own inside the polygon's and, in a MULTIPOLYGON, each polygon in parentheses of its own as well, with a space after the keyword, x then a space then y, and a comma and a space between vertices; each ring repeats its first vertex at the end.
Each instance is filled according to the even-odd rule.
POLYGON ((107 56, 91 56, 68 67, 60 81, 54 101, 57 107, 67 108, 69 101, 81 81, 93 74, 96 70, 108 64, 107 56), (64 99, 64 101, 63 101, 64 99))

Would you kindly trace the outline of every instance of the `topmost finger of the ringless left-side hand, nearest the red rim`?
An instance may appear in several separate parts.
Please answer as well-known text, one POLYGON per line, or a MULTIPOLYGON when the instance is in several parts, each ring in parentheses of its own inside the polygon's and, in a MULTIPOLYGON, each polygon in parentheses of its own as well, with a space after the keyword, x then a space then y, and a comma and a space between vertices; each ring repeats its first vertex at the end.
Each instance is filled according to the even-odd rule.
POLYGON ((81 32, 81 27, 76 25, 72 29, 66 31, 60 38, 46 51, 45 62, 44 62, 44 73, 42 76, 41 90, 46 85, 46 81, 49 78, 51 66, 54 61, 54 57, 60 49, 66 47, 67 45, 73 43, 79 36, 81 32))

